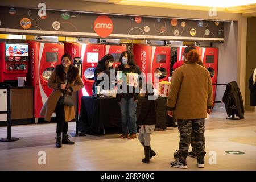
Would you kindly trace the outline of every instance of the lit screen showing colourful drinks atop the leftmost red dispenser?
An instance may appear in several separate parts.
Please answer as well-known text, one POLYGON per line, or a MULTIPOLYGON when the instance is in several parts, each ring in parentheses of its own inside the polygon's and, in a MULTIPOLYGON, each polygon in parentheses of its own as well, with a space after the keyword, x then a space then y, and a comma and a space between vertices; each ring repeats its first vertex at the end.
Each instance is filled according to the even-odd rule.
POLYGON ((28 56, 28 44, 5 44, 6 56, 28 56))

